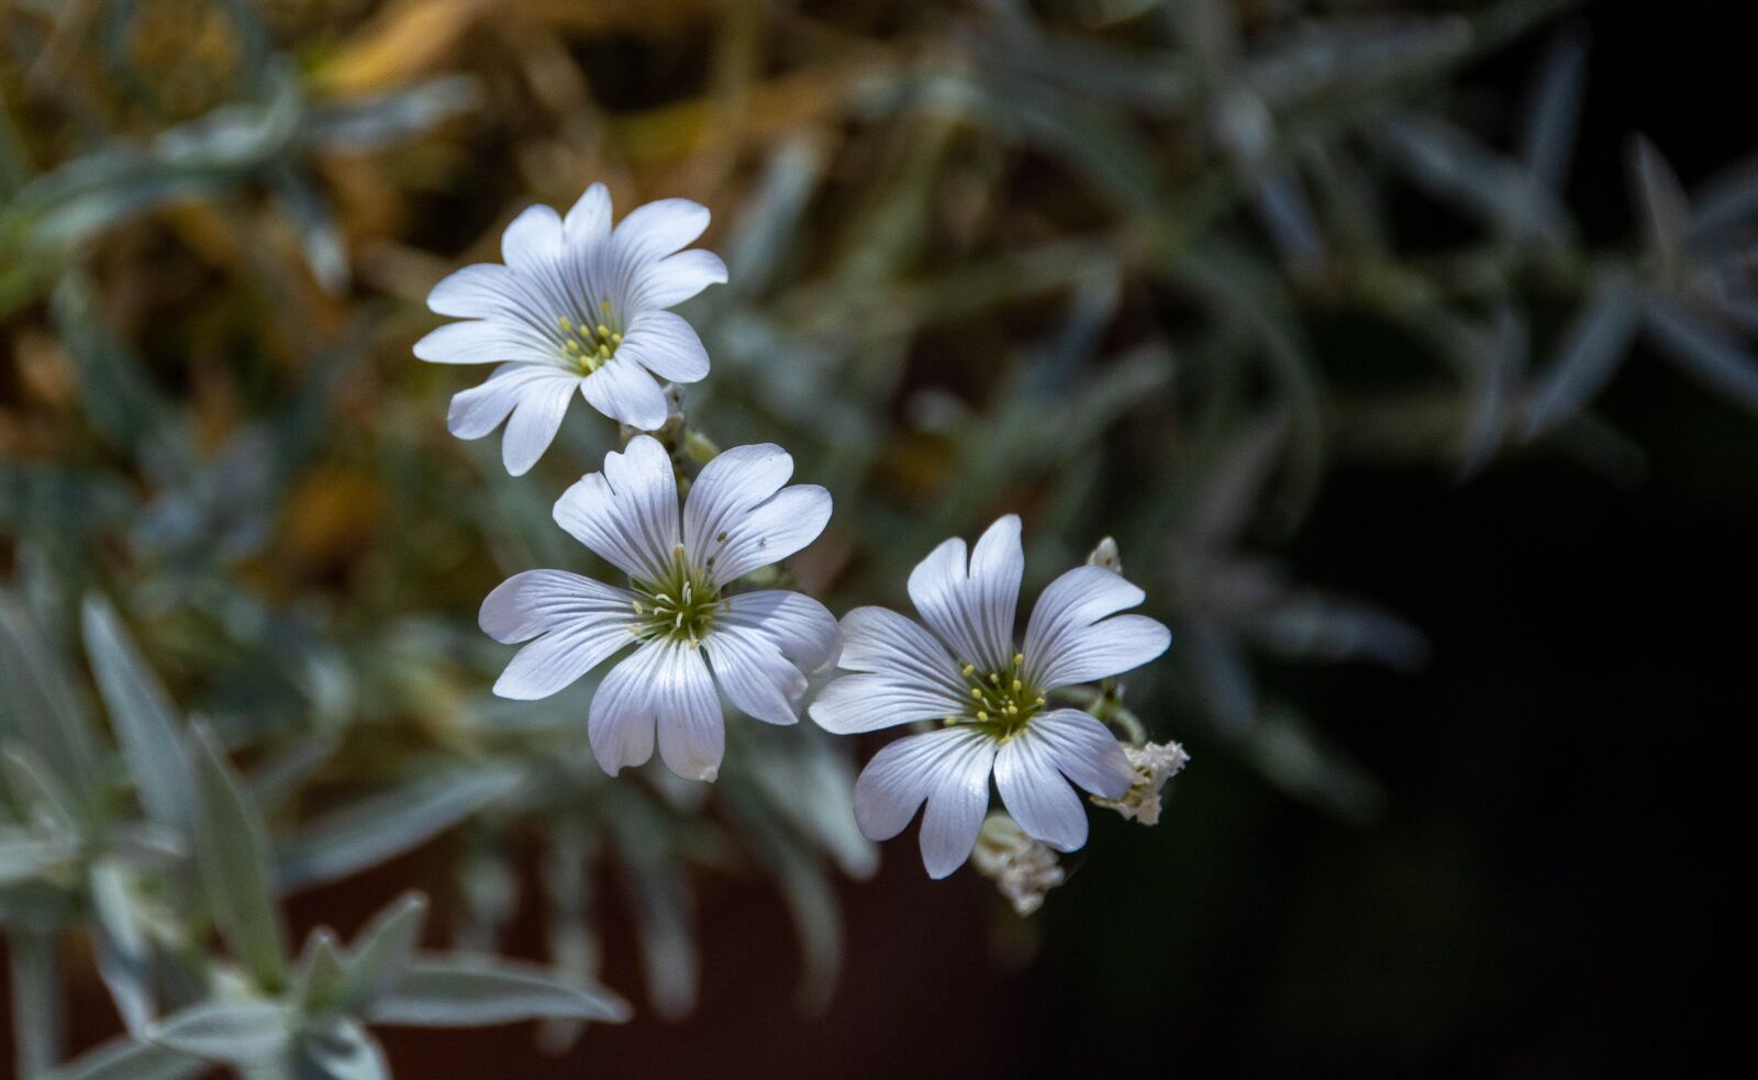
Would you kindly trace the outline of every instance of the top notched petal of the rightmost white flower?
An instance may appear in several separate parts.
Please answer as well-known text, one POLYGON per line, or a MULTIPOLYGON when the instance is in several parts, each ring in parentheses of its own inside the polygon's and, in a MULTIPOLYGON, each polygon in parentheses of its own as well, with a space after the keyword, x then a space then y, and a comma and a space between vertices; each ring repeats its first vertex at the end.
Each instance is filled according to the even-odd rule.
POLYGON ((1020 517, 1007 514, 977 540, 969 568, 963 540, 935 547, 909 575, 909 598, 958 660, 1006 670, 1023 573, 1020 517))

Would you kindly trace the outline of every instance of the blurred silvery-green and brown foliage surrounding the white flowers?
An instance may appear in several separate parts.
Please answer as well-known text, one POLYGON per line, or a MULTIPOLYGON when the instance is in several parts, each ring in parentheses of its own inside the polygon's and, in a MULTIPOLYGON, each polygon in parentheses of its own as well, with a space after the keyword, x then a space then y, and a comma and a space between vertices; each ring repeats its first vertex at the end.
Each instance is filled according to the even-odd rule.
POLYGON ((1637 475, 1593 399, 1638 332, 1758 410, 1758 165, 1686 192, 1631 135, 1638 234, 1587 243, 1563 197, 1587 76, 1568 7, 0 4, 21 1075, 371 1076, 374 1020, 541 1015, 566 1047, 617 1013, 605 881, 652 1006, 682 1013, 703 871, 774 878, 803 1001, 828 994, 832 876, 875 865, 847 748, 735 719, 712 790, 608 783, 589 686, 487 693, 505 651, 476 603, 517 570, 591 570, 548 507, 615 433, 577 408, 512 480, 496 440, 445 433, 464 383, 410 343, 440 276, 594 179, 621 209, 716 209, 731 283, 689 308, 714 357, 691 417, 721 445, 786 445, 835 494, 800 587, 898 603, 935 542, 1020 510, 1032 589, 1113 533, 1176 633, 1132 686, 1155 733, 1201 726, 1369 820, 1375 779, 1262 674, 1426 654, 1275 558, 1326 473, 1547 452, 1637 475), (1521 100, 1459 93, 1529 35, 1551 44, 1521 100), (418 901, 353 950, 318 932, 287 952, 281 895, 441 834, 424 885, 478 959, 410 959, 418 901), (480 959, 526 857, 543 974, 480 959), (151 1041, 54 1069, 76 939, 151 1041))

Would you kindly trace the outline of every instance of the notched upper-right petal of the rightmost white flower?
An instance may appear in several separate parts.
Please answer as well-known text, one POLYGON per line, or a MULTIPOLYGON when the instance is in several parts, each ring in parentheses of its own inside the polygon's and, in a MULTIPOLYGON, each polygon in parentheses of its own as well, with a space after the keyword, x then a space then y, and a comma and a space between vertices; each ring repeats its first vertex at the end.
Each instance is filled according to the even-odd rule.
POLYGON ((1076 566, 1044 587, 1025 628, 1025 670, 1039 690, 1074 686, 1137 668, 1173 642, 1146 616, 1113 616, 1136 607, 1143 591, 1115 570, 1076 566))

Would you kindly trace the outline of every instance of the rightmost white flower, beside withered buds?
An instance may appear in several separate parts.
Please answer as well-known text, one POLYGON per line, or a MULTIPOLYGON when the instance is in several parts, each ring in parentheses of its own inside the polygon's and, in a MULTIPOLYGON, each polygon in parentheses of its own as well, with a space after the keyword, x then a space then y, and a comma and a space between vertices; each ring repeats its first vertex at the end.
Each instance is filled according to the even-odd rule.
POLYGON ((1115 799, 1134 777, 1099 719, 1053 709, 1046 695, 1139 667, 1166 651, 1171 633, 1116 614, 1141 603, 1141 589, 1111 570, 1076 566, 1037 598, 1014 651, 1023 572, 1011 514, 983 533, 969 566, 963 540, 939 545, 909 575, 909 598, 933 633, 883 607, 851 610, 840 667, 856 674, 812 704, 812 719, 839 733, 944 723, 881 749, 854 784, 854 816, 875 841, 902 832, 926 800, 921 857, 933 878, 970 855, 992 770, 1020 827, 1060 851, 1086 843, 1086 813, 1069 781, 1115 799))

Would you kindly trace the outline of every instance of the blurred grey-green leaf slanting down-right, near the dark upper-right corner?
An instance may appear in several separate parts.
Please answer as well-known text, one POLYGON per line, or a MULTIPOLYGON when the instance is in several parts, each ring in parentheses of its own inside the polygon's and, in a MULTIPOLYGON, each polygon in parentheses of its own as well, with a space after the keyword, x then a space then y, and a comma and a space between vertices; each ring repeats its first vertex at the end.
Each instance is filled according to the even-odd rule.
POLYGON ((1568 215, 1531 172, 1443 120, 1401 114, 1377 125, 1412 181, 1515 237, 1565 241, 1568 215))

